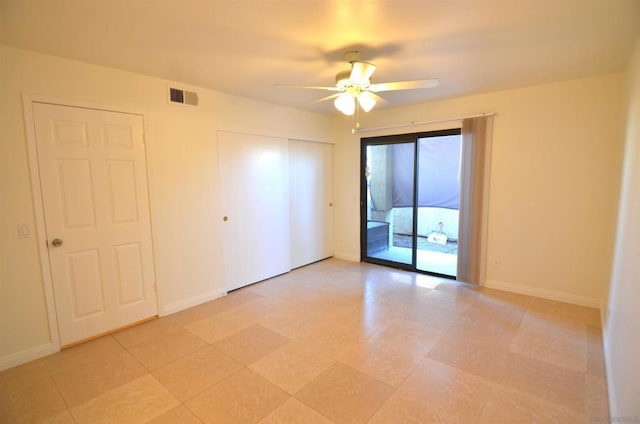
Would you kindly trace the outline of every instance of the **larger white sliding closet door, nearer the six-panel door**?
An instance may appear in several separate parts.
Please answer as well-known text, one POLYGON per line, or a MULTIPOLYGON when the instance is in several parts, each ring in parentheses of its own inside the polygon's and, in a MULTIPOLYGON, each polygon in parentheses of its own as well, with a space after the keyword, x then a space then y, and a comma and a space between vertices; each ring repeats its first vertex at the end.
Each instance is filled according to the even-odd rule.
POLYGON ((218 132, 225 289, 291 269, 287 139, 218 132))

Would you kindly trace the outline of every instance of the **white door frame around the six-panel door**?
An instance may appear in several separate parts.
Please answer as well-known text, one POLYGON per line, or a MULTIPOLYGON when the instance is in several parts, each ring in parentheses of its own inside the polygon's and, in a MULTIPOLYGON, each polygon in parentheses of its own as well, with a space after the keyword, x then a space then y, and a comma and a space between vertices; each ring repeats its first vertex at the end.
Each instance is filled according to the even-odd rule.
MULTIPOLYGON (((107 106, 103 104, 90 103, 86 101, 78 101, 71 99, 64 99, 60 97, 52 97, 47 95, 38 94, 22 94, 22 109, 24 113, 24 125, 25 135, 27 140, 27 154, 29 161, 29 176, 31 178, 31 197, 33 200, 33 214, 35 221, 35 233, 36 242, 38 244, 38 254, 40 256, 40 269, 42 273, 42 281, 44 288, 45 304, 47 307, 47 318, 49 321, 49 333, 51 338, 51 352, 60 351, 60 332, 58 330, 58 313, 56 310, 54 291, 53 291, 53 278, 51 276, 51 265, 49 263, 49 248, 47 246, 47 232, 44 218, 44 202, 42 200, 42 187, 40 185, 40 168, 38 165, 38 149, 35 132, 35 117, 33 114, 34 103, 46 103, 56 106, 77 107, 83 109, 94 109, 106 112, 127 113, 131 115, 140 115, 142 117, 143 125, 143 137, 145 134, 145 115, 140 110, 132 110, 128 108, 107 106)), ((151 212, 151 193, 149 190, 149 170, 147 166, 148 150, 145 137, 145 172, 147 173, 147 191, 149 192, 149 209, 151 212)), ((151 214, 150 214, 151 215, 151 214)), ((157 282, 157 269, 155 260, 154 238, 153 238, 153 220, 149 217, 151 226, 151 258, 153 261, 152 267, 155 274, 155 280, 157 282)), ((156 305, 158 305, 159 293, 158 285, 156 286, 156 305)), ((159 305, 158 305, 159 310, 159 305)))

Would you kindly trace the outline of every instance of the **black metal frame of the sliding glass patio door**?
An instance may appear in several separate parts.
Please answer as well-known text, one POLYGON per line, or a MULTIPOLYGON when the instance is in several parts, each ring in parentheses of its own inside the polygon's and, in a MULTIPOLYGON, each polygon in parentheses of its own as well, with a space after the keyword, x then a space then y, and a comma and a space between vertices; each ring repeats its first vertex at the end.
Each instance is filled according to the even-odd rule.
POLYGON ((419 158, 419 143, 421 138, 428 137, 442 137, 450 135, 460 135, 460 128, 451 128, 445 130, 436 131, 423 131, 417 133, 408 134, 393 134, 374 137, 362 137, 360 139, 360 261, 368 262, 378 265, 389 266, 393 268, 399 268, 406 271, 418 272, 421 274, 432 275, 435 277, 442 277, 455 280, 455 276, 438 274, 431 271, 420 270, 417 268, 417 254, 418 254, 418 163, 419 158), (413 143, 413 228, 412 228, 412 243, 411 243, 411 263, 395 262, 388 259, 376 258, 368 255, 367 252, 367 147, 369 146, 385 146, 394 144, 406 144, 413 143))

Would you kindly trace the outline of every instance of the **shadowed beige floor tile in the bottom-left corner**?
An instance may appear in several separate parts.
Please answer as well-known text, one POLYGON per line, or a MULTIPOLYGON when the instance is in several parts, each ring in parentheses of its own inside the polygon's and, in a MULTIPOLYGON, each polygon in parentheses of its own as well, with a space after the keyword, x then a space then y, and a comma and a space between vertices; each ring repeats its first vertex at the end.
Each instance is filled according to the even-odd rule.
POLYGON ((66 404, 43 361, 0 372, 0 423, 55 422, 65 411, 66 404))

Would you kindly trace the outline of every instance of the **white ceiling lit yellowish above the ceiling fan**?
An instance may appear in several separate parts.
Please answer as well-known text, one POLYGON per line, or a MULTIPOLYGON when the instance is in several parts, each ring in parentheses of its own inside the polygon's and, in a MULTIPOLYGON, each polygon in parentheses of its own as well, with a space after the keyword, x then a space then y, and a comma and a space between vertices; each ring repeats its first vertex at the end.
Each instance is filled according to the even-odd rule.
POLYGON ((324 113, 360 50, 387 106, 624 69, 640 0, 0 0, 0 43, 324 113))

